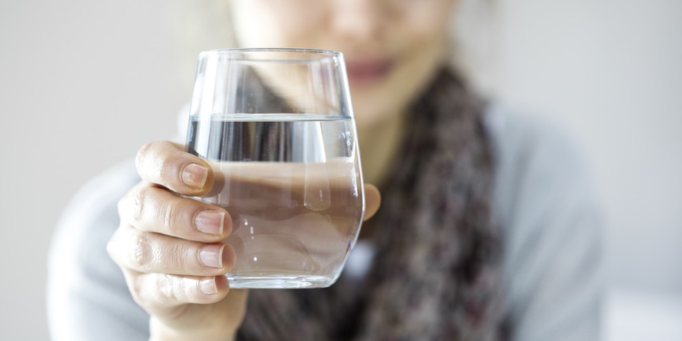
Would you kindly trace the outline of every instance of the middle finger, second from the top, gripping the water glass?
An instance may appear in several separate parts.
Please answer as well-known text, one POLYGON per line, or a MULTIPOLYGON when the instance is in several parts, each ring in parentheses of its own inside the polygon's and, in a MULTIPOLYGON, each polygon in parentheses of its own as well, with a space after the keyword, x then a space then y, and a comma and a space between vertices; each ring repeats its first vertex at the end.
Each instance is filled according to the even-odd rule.
POLYGON ((232 219, 223 208, 144 182, 118 201, 118 216, 142 231, 199 242, 218 242, 232 231, 232 219))

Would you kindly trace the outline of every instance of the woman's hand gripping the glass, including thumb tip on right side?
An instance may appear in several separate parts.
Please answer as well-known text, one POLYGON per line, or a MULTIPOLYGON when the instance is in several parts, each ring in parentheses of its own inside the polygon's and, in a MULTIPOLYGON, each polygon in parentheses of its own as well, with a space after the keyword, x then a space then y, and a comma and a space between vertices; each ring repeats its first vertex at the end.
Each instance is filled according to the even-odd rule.
MULTIPOLYGON (((142 182, 118 203, 121 225, 108 244, 135 301, 151 315, 151 340, 231 340, 244 318, 247 290, 229 290, 235 253, 223 208, 179 197, 213 184, 210 166, 171 142, 140 149, 142 182), (229 291, 229 294, 228 294, 229 291)), ((379 191, 366 185, 368 219, 379 191)))

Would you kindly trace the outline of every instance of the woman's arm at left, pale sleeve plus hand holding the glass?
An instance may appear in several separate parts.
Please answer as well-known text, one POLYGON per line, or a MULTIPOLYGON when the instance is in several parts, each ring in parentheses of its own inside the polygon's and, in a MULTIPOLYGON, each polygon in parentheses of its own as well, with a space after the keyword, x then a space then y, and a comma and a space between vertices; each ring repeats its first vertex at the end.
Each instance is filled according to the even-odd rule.
MULTIPOLYGON (((188 186, 184 170, 210 167, 170 142, 148 144, 136 164, 94 181, 64 214, 51 250, 53 340, 231 340, 247 294, 229 290, 223 276, 234 258, 223 242, 229 214, 170 192, 209 190, 211 173, 189 177, 203 181, 188 186), (121 173, 133 176, 114 176, 121 173), (222 218, 202 218, 207 211, 222 218)), ((367 185, 366 199, 370 218, 377 188, 367 185)))

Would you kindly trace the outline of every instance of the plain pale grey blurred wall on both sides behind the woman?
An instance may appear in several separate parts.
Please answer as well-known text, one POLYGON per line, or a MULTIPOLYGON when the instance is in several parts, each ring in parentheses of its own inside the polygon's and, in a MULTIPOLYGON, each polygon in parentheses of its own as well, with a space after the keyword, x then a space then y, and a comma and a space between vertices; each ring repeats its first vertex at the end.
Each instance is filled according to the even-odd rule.
MULTIPOLYGON (((551 117, 590 162, 603 339, 682 340, 682 1, 463 1, 481 90, 551 117)), ((197 53, 226 47, 204 2, 0 2, 0 340, 47 340, 47 249, 78 188, 175 134, 197 53)))

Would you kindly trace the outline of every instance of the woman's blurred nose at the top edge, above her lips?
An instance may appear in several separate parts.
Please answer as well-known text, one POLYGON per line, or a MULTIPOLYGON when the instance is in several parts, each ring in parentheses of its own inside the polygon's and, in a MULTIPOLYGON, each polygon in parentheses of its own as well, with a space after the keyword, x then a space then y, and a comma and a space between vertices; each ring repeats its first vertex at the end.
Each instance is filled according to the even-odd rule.
POLYGON ((384 0, 336 0, 331 29, 339 38, 372 40, 382 34, 388 9, 384 0))

